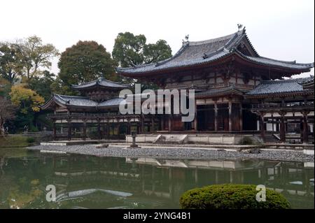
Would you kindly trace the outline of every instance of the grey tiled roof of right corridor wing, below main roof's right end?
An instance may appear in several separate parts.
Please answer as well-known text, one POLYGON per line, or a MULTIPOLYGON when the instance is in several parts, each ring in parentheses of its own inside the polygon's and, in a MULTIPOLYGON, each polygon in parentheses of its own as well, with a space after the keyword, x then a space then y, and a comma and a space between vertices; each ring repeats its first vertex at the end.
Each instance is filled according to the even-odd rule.
POLYGON ((263 95, 263 94, 283 94, 303 92, 304 89, 300 82, 308 81, 311 78, 296 78, 288 80, 265 80, 260 85, 247 92, 246 95, 263 95))

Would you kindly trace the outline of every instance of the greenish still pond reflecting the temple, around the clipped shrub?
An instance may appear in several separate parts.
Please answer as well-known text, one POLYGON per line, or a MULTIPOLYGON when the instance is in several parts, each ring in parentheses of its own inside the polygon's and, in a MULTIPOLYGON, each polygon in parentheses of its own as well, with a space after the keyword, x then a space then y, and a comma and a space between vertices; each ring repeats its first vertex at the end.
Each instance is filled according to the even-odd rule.
POLYGON ((179 208, 194 187, 265 185, 314 208, 314 163, 130 159, 0 148, 0 208, 179 208), (57 201, 46 201, 54 185, 57 201))

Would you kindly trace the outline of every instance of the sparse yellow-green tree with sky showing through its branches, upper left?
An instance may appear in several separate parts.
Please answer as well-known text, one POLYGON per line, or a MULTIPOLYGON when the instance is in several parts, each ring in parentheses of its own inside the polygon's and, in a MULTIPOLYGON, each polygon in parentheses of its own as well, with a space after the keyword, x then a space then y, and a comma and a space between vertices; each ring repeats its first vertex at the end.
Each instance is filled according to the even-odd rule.
POLYGON ((22 61, 23 75, 31 80, 37 75, 42 74, 42 68, 50 69, 51 59, 59 55, 54 45, 43 44, 38 36, 17 41, 15 43, 20 59, 22 61))

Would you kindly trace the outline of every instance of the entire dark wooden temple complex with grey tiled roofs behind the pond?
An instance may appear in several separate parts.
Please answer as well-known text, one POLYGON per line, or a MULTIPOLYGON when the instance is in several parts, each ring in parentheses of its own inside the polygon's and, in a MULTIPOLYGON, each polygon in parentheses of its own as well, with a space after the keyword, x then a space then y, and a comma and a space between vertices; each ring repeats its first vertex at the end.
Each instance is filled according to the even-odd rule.
POLYGON ((87 137, 87 127, 99 138, 114 134, 164 132, 174 134, 260 134, 286 141, 289 134, 304 143, 314 132, 314 77, 291 78, 314 68, 262 57, 242 29, 207 41, 183 41, 164 61, 116 69, 118 75, 151 82, 160 89, 195 89, 195 120, 181 115, 121 115, 120 89, 128 87, 104 78, 74 85, 82 96, 54 94, 43 109, 54 110, 58 127, 87 137), (76 129, 76 131, 74 131, 76 129), (134 130, 132 130, 134 129, 134 130), (73 132, 74 131, 74 132, 73 132))

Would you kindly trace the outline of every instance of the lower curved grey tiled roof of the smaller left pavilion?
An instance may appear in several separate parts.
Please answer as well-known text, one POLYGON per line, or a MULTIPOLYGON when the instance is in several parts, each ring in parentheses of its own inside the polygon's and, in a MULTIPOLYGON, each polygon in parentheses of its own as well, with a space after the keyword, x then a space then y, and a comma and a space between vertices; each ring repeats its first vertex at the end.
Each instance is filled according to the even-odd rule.
POLYGON ((98 103, 97 101, 93 101, 88 99, 85 96, 68 96, 68 95, 60 95, 60 94, 52 94, 49 101, 41 106, 42 109, 47 109, 50 107, 52 103, 57 103, 59 106, 65 107, 86 107, 86 108, 99 108, 99 107, 110 107, 110 106, 119 106, 121 101, 125 99, 109 99, 107 101, 102 101, 98 103))

